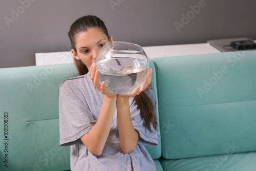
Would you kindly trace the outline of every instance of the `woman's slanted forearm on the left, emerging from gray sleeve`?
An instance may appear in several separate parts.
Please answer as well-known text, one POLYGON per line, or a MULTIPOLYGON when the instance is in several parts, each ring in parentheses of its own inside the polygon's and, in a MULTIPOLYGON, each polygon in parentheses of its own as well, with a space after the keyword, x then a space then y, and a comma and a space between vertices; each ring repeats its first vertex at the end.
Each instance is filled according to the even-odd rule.
POLYGON ((101 155, 106 139, 108 139, 116 108, 116 99, 117 97, 104 96, 97 122, 87 134, 81 137, 83 144, 94 155, 101 155))

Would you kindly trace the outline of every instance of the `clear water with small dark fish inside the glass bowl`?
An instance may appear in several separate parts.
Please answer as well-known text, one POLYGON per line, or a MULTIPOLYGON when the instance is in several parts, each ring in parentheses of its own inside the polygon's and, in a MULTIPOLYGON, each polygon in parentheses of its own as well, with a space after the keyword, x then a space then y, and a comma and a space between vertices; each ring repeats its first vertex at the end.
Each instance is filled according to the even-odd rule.
POLYGON ((106 89, 116 94, 133 92, 144 82, 147 73, 147 61, 131 57, 102 59, 97 63, 99 81, 105 81, 106 89))

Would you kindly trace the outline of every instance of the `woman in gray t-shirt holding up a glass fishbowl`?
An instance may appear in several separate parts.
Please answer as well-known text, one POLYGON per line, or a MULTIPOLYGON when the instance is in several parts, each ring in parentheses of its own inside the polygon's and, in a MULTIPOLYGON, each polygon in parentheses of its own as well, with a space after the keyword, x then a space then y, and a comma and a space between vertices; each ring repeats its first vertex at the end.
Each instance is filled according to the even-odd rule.
POLYGON ((144 145, 156 145, 152 69, 141 87, 117 95, 99 82, 95 59, 113 41, 102 20, 83 16, 69 37, 80 76, 59 91, 60 145, 71 145, 72 170, 155 170, 144 145), (144 91, 146 89, 146 91, 144 91))

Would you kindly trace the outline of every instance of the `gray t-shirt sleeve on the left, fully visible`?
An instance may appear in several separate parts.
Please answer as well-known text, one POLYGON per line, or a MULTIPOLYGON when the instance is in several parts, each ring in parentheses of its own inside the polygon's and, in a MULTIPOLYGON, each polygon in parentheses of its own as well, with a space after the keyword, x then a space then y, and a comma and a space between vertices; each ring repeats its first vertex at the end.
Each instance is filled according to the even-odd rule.
POLYGON ((67 146, 81 142, 96 123, 83 94, 63 82, 59 88, 59 133, 60 145, 67 146))

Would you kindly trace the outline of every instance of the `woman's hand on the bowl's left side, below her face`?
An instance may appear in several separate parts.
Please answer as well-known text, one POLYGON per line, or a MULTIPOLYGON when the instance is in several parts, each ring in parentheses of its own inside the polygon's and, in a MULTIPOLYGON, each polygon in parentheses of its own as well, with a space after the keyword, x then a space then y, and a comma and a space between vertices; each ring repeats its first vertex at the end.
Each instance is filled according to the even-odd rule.
POLYGON ((94 87, 102 94, 109 96, 109 97, 116 97, 117 94, 106 90, 106 83, 103 81, 101 84, 99 82, 99 71, 97 70, 96 64, 93 62, 90 70, 89 75, 91 77, 92 82, 94 83, 94 87))

